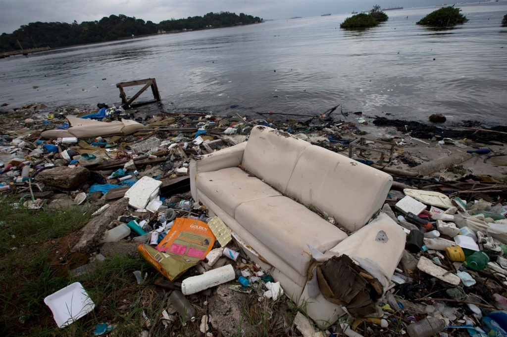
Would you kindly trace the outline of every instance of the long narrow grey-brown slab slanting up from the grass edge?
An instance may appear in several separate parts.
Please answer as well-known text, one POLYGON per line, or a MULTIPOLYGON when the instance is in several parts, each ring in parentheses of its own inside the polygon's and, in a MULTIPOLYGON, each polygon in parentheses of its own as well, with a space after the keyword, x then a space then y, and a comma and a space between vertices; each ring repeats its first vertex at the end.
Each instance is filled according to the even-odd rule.
POLYGON ((104 236, 107 225, 123 215, 127 205, 128 198, 121 198, 111 204, 100 215, 90 220, 79 232, 81 238, 72 249, 72 252, 82 252, 84 254, 91 252, 104 236))

